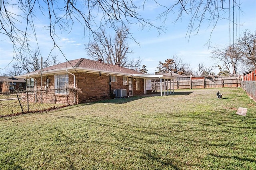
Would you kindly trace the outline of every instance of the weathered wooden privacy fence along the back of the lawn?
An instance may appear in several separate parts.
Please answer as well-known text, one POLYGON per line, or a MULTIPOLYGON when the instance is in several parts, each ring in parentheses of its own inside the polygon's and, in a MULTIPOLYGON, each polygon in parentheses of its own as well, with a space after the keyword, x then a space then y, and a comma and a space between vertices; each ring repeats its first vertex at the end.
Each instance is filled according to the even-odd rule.
MULTIPOLYGON (((174 82, 162 82, 162 89, 164 86, 170 89, 170 83, 174 89, 195 89, 195 88, 224 88, 224 87, 240 87, 239 77, 224 77, 224 78, 206 78, 198 80, 174 80, 174 82)), ((160 90, 160 82, 152 82, 152 90, 160 90)))

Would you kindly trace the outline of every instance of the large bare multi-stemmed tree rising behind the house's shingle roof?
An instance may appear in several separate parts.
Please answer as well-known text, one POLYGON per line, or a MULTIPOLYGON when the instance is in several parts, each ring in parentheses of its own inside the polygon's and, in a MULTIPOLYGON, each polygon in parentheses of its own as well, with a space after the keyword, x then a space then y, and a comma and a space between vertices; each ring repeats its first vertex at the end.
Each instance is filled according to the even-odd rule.
POLYGON ((92 59, 102 59, 104 63, 120 64, 124 67, 136 67, 140 65, 141 60, 128 59, 128 55, 132 53, 127 44, 128 36, 128 29, 125 27, 119 27, 114 38, 107 35, 105 29, 101 29, 95 34, 93 42, 85 44, 85 49, 92 59))

